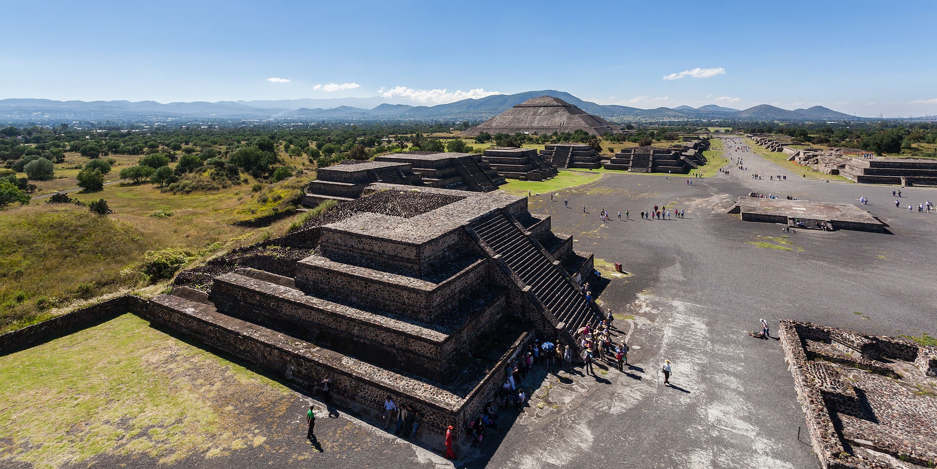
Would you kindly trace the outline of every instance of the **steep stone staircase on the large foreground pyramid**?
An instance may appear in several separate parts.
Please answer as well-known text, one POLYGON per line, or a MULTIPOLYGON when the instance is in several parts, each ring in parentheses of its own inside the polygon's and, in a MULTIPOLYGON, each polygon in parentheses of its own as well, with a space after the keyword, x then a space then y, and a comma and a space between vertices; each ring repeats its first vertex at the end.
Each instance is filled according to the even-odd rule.
POLYGON ((543 304, 544 314, 552 315, 562 323, 570 335, 598 318, 599 308, 586 301, 579 288, 568 280, 568 275, 543 247, 502 212, 473 222, 470 229, 525 284, 543 304))

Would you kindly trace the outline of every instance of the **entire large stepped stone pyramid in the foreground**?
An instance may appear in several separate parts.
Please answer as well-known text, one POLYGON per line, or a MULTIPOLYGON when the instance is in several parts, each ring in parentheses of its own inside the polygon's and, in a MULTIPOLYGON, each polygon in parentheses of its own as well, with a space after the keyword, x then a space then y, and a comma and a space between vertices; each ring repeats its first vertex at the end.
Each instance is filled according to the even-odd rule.
POLYGON ((592 255, 527 204, 375 183, 287 237, 180 274, 144 315, 310 392, 329 377, 334 403, 365 419, 379 422, 391 395, 440 445, 533 336, 575 352, 573 333, 602 315, 580 292, 592 255), (282 256, 294 250, 305 256, 282 256))

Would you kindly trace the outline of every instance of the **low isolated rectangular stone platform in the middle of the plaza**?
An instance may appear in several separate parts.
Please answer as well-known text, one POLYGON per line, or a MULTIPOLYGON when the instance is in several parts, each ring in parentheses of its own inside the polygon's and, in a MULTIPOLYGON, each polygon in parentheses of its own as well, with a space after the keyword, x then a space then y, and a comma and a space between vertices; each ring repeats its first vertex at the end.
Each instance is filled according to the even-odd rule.
POLYGON ((884 233, 885 224, 855 205, 786 198, 738 198, 729 213, 740 213, 743 221, 788 225, 794 219, 818 220, 833 229, 884 233))

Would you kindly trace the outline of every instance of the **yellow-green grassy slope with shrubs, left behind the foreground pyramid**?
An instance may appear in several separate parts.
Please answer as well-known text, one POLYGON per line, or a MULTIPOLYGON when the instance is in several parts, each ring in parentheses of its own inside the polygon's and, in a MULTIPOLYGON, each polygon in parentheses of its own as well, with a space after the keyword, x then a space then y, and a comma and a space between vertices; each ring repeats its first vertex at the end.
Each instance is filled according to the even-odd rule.
POLYGON ((107 216, 45 200, 0 211, 0 332, 59 314, 75 300, 150 285, 142 275, 153 260, 148 251, 171 248, 176 261, 190 263, 282 234, 289 219, 264 228, 232 223, 292 210, 311 177, 177 195, 120 183, 72 194, 82 202, 106 199, 114 211, 107 216))

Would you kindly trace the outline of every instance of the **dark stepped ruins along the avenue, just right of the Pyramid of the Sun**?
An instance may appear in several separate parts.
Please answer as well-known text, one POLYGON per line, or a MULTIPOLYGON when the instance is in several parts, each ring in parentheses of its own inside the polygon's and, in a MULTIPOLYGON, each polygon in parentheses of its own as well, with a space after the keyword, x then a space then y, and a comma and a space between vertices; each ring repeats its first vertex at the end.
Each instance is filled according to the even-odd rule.
POLYGON ((631 172, 670 172, 687 174, 706 164, 703 152, 709 149, 709 139, 688 141, 670 148, 624 148, 605 163, 605 169, 631 172))

